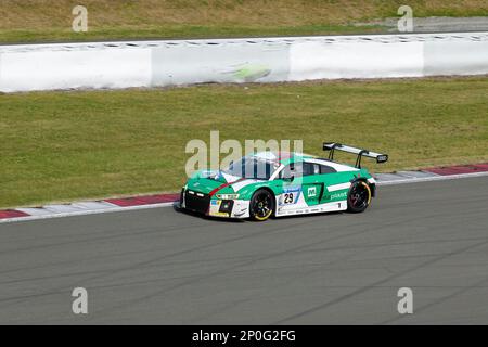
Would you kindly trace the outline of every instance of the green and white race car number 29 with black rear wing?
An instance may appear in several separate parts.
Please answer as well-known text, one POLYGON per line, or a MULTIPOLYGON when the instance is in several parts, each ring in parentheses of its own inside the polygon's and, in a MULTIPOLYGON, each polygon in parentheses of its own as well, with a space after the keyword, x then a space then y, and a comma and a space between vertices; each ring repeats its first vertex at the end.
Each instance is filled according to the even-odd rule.
POLYGON ((226 170, 203 170, 181 191, 180 207, 206 216, 266 220, 271 216, 349 210, 361 213, 375 195, 376 181, 361 158, 388 159, 339 143, 324 143, 329 158, 300 153, 260 152, 226 170), (334 151, 357 155, 356 165, 334 162, 334 151))

